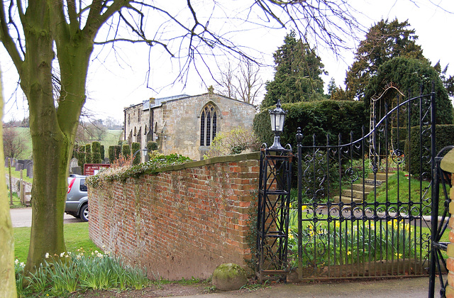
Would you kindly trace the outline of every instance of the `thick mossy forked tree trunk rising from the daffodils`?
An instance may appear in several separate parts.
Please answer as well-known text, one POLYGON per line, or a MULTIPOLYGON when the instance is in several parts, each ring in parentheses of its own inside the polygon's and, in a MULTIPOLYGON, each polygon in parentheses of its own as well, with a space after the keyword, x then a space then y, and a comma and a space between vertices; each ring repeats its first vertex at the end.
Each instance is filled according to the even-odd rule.
MULTIPOLYGON (((28 10, 39 11, 40 5, 46 6, 46 1, 31 2, 28 10)), ((26 43, 28 49, 33 50, 26 51, 21 73, 21 88, 30 109, 34 162, 31 242, 26 272, 33 272, 46 253, 60 255, 66 250, 62 219, 68 165, 85 102, 89 57, 93 50, 93 36, 57 28, 67 24, 52 24, 56 17, 50 11, 31 13, 27 18, 33 30, 26 31, 26 43), (61 32, 65 34, 59 35, 61 32), (57 94, 57 101, 52 89, 54 46, 60 65, 61 92, 57 94)))

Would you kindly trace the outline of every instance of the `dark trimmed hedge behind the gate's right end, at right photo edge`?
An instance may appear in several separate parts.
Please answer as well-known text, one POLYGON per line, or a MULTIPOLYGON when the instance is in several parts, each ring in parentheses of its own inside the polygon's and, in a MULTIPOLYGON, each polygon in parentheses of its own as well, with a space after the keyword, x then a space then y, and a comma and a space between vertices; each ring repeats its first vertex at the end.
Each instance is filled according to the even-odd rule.
MULTIPOLYGON (((424 175, 425 177, 430 177, 431 171, 431 164, 430 164, 430 157, 426 158, 424 155, 430 153, 431 149, 431 138, 430 138, 430 128, 428 126, 423 126, 423 136, 421 138, 420 143, 420 129, 419 126, 414 126, 411 128, 411 146, 409 150, 409 143, 406 142, 405 144, 405 154, 406 154, 406 170, 409 170, 411 175, 419 176, 420 173, 420 148, 423 150, 423 158, 421 160, 421 172, 427 172, 428 175, 424 175), (410 154, 410 162, 408 162, 408 155, 410 154)), ((446 125, 436 125, 435 126, 435 134, 436 134, 436 144, 435 144, 435 152, 438 152, 445 148, 448 145, 454 144, 454 125, 446 124, 446 125)), ((423 177, 423 178, 425 178, 423 177)))

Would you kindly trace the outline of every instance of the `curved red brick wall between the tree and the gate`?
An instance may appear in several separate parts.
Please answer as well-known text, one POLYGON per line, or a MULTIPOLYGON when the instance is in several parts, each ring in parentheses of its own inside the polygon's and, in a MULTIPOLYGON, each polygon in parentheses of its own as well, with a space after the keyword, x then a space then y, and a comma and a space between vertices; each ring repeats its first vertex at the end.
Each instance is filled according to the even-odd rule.
POLYGON ((89 235, 152 279, 208 278, 221 263, 245 267, 259 153, 166 167, 89 187, 89 235))

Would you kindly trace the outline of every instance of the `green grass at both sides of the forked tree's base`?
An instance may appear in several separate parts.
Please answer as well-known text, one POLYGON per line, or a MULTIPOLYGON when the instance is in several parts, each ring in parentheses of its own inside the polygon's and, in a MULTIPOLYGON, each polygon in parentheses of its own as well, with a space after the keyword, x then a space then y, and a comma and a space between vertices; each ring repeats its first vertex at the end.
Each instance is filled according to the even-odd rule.
MULTIPOLYGON (((28 245, 30 244, 31 228, 14 228, 14 256, 21 262, 26 262, 28 245)), ((86 252, 99 249, 88 236, 88 223, 65 224, 66 250, 76 252, 82 248, 86 252)))

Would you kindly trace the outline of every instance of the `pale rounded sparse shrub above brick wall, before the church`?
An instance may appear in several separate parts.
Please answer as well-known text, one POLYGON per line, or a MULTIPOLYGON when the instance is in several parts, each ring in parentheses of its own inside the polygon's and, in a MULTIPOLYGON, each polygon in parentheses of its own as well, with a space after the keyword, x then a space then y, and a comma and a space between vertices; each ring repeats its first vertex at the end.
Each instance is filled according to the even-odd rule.
POLYGON ((254 133, 237 127, 227 133, 218 133, 211 143, 210 150, 204 155, 204 158, 239 154, 246 150, 258 151, 259 149, 260 143, 254 133))

